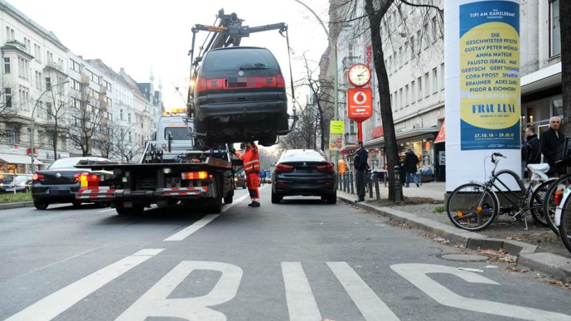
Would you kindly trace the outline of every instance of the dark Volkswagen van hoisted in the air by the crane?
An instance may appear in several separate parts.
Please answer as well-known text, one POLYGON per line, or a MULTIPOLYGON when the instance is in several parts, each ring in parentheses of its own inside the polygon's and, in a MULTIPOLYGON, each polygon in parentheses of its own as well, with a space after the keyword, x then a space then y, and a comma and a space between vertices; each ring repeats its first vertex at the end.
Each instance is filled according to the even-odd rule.
POLYGON ((259 141, 288 132, 286 81, 268 49, 227 47, 205 54, 194 88, 196 132, 205 143, 259 141))

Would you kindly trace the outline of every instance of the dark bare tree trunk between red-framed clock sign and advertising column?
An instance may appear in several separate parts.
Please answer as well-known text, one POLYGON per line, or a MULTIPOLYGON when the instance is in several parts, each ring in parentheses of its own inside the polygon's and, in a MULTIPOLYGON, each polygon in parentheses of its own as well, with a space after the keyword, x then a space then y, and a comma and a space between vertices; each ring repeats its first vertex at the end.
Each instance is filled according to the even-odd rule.
POLYGON ((386 0, 381 3, 380 10, 375 12, 373 0, 365 0, 365 10, 370 24, 370 40, 373 47, 373 64, 377 80, 379 81, 379 97, 381 100, 381 118, 384 131, 384 148, 387 163, 389 164, 389 199, 395 200, 394 166, 398 164, 398 150, 396 145, 396 134, 393 123, 393 109, 391 107, 391 96, 389 88, 389 77, 386 75, 384 65, 384 53, 382 51, 382 38, 380 33, 381 19, 386 10, 391 6, 393 0, 386 0))

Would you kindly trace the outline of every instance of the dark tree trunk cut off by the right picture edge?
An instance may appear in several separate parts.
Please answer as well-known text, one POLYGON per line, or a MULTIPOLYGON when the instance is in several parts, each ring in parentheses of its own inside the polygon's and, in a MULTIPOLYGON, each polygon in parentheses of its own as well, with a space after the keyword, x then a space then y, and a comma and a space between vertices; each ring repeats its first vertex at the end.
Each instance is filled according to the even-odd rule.
POLYGON ((561 91, 563 93, 563 134, 565 137, 571 136, 571 19, 569 17, 571 17, 571 1, 559 0, 561 91))

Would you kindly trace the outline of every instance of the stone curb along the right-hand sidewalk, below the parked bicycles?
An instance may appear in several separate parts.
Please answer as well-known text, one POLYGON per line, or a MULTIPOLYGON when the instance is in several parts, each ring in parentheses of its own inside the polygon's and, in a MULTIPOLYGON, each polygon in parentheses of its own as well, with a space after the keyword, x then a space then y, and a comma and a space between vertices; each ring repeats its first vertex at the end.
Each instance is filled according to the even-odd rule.
POLYGON ((487 235, 459 230, 453 226, 417 217, 414 214, 394 210, 393 208, 377 208, 366 203, 355 203, 345 196, 337 195, 338 200, 356 205, 358 208, 369 210, 384 217, 394 219, 399 223, 405 223, 419 230, 426 230, 439 237, 450 240, 455 244, 461 244, 468 249, 504 249, 511 256, 517 256, 517 265, 541 272, 560 279, 565 283, 571 283, 571 258, 565 258, 553 253, 535 253, 538 246, 515 240, 502 240, 487 235))

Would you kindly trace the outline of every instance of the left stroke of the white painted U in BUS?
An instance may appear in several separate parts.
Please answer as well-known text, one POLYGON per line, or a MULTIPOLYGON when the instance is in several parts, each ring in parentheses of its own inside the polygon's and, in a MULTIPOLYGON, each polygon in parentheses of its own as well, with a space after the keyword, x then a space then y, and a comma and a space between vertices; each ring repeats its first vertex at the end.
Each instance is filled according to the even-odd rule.
POLYGON ((286 301, 288 302, 290 321, 322 320, 302 263, 282 262, 281 272, 283 283, 286 285, 286 301))

